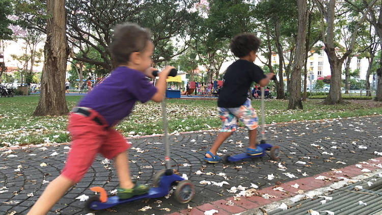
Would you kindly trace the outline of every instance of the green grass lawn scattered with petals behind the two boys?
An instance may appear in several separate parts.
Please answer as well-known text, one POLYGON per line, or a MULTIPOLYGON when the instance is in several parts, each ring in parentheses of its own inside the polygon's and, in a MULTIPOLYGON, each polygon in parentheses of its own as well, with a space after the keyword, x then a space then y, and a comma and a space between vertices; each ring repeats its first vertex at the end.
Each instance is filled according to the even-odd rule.
MULTIPOLYGON (((69 110, 81 96, 67 96, 69 110)), ((38 144, 44 142, 70 141, 66 131, 67 116, 33 117, 38 96, 17 96, 0 98, 0 146, 38 144)), ((266 100, 265 122, 289 122, 381 115, 382 102, 373 100, 347 100, 341 105, 318 104, 321 100, 312 99, 303 102, 304 110, 286 110, 287 100, 266 100)), ((260 115, 260 100, 252 101, 260 115)), ((169 131, 193 131, 219 129, 221 126, 216 111, 216 100, 168 99, 169 131)), ((259 122, 261 122, 259 120, 259 122)), ((242 124, 239 124, 242 126, 242 124)), ((116 129, 126 137, 162 133, 160 103, 137 103, 130 117, 122 121, 116 129)))

